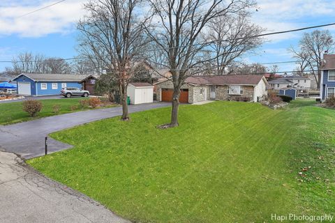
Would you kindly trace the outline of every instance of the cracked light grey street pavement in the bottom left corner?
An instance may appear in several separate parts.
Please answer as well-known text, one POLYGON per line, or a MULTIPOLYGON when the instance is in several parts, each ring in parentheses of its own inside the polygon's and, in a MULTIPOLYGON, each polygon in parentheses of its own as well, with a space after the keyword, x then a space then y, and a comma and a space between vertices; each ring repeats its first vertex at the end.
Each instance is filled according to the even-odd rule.
POLYGON ((128 222, 104 206, 0 152, 0 222, 128 222))

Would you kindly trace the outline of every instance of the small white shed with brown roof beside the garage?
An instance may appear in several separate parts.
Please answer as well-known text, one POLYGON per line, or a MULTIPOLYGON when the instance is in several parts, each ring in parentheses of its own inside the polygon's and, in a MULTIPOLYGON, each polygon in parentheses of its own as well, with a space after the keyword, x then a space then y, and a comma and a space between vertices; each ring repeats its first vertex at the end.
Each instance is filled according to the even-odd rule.
POLYGON ((133 105, 154 102, 154 86, 152 84, 143 82, 129 83, 127 93, 133 105))

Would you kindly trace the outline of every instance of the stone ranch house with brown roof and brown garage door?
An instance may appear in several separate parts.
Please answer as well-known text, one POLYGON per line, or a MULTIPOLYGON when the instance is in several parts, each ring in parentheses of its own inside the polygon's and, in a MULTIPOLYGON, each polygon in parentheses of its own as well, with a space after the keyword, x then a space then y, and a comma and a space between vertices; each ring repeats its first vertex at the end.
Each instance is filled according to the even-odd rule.
MULTIPOLYGON (((158 82, 158 101, 172 100, 173 84, 170 80, 158 82)), ((262 75, 193 76, 181 86, 179 101, 196 103, 204 100, 245 100, 258 102, 267 95, 267 79, 262 75)))

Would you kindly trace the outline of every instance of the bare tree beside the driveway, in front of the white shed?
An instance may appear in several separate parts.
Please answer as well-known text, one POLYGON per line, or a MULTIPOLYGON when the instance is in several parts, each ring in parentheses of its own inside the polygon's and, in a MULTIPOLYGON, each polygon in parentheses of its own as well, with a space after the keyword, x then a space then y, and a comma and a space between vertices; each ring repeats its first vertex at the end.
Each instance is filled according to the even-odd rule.
POLYGON ((127 86, 132 66, 144 52, 147 38, 140 14, 141 0, 91 0, 84 4, 87 15, 77 24, 82 52, 114 75, 119 85, 122 120, 129 120, 127 86))

